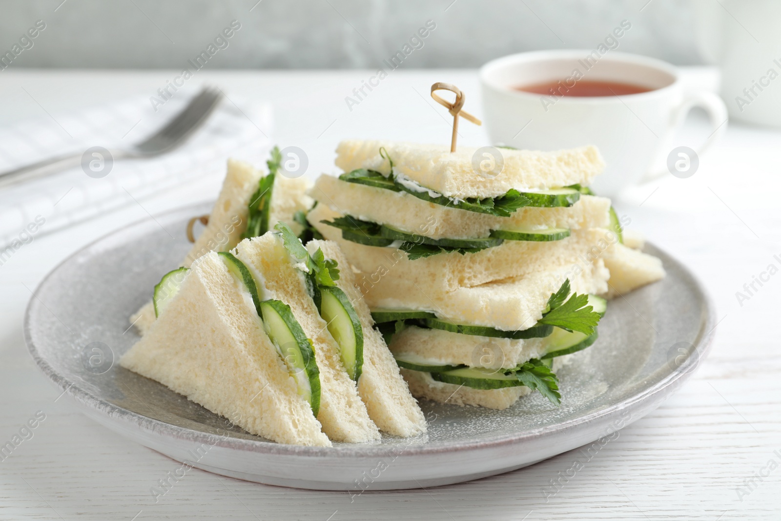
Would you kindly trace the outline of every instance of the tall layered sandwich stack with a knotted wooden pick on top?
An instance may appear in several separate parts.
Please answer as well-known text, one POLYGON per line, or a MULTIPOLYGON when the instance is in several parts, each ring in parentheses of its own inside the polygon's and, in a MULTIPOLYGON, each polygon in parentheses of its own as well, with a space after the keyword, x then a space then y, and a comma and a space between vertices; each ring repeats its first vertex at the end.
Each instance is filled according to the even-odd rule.
POLYGON ((415 397, 505 409, 539 391, 558 405, 555 370, 594 343, 605 298, 664 269, 588 189, 595 148, 503 148, 501 170, 475 154, 343 141, 344 173, 319 177, 308 221, 351 263, 415 397))

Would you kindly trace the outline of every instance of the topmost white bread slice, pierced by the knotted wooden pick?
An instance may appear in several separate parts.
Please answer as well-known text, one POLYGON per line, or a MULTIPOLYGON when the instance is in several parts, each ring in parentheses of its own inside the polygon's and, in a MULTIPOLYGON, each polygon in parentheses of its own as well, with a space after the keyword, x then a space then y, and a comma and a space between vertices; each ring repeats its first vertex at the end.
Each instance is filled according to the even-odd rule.
POLYGON ((558 152, 495 148, 501 153, 504 166, 497 176, 488 177, 473 168, 477 148, 460 146, 457 152, 450 152, 447 145, 362 140, 341 141, 337 145, 336 165, 345 172, 368 168, 387 174, 389 163, 380 156, 380 147, 393 159, 394 173, 452 198, 497 197, 511 188, 588 186, 604 170, 604 161, 593 146, 558 152))

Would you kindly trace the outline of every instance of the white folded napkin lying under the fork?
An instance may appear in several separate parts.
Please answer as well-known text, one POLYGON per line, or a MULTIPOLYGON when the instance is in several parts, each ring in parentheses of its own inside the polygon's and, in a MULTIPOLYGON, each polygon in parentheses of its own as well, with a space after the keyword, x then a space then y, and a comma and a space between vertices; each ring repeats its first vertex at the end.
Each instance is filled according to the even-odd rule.
MULTIPOLYGON (((109 150, 130 146, 165 125, 194 94, 180 90, 158 106, 157 112, 148 96, 139 96, 57 120, 45 116, 0 127, 0 171, 66 152, 82 154, 94 146, 109 150)), ((0 187, 0 264, 4 252, 7 256, 9 248, 20 248, 33 235, 142 203, 144 198, 209 174, 224 175, 226 159, 231 156, 262 162, 271 146, 270 105, 226 95, 196 134, 173 152, 152 159, 117 159, 105 177, 90 177, 77 166, 0 187)))

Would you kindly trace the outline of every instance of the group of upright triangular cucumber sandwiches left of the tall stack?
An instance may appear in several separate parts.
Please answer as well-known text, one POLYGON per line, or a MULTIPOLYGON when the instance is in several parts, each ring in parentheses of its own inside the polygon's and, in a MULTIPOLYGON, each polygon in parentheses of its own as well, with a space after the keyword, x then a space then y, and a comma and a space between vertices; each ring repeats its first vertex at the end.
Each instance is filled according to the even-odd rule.
POLYGON ((120 365, 280 443, 424 433, 341 250, 302 244, 311 230, 294 212, 308 205, 302 190, 274 179, 278 165, 273 158, 260 176, 229 163, 209 226, 155 287, 152 318, 120 365), (216 241, 219 232, 226 238, 216 241))

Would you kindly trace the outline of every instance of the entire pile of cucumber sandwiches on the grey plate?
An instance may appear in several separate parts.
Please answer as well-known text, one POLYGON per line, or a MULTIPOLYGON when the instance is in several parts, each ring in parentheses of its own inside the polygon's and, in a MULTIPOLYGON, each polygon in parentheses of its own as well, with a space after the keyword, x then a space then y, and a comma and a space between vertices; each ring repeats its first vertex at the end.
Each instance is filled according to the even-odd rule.
POLYGON ((230 161, 120 365, 287 444, 425 433, 415 398, 559 405, 562 361, 662 263, 589 190, 595 148, 475 153, 344 141, 308 191, 276 149, 267 173, 230 161))

